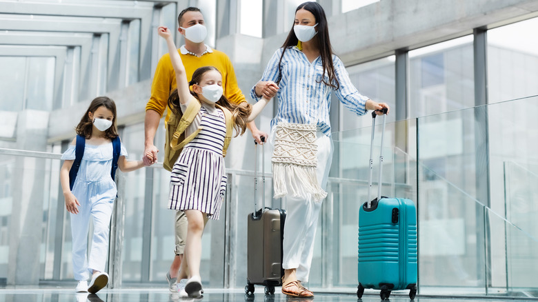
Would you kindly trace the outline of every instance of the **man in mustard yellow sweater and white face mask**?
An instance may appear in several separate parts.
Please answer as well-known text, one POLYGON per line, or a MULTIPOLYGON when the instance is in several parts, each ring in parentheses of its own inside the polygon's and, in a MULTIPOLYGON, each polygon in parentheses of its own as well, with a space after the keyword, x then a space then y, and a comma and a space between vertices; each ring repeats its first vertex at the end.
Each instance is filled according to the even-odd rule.
MULTIPOLYGON (((183 61, 187 72, 187 79, 190 81, 192 73, 197 68, 203 66, 215 66, 222 74, 222 86, 224 88, 224 95, 228 100, 233 103, 246 102, 243 92, 237 86, 237 79, 235 77, 235 71, 232 63, 226 54, 219 52, 218 50, 212 50, 209 46, 203 43, 206 39, 207 30, 203 15, 199 8, 186 8, 177 17, 179 23, 178 31, 185 36, 185 45, 179 48, 179 55, 183 61)), ((174 68, 172 68, 172 62, 170 61, 169 54, 164 54, 155 70, 155 77, 151 87, 151 97, 146 105, 146 119, 144 121, 144 154, 152 154, 152 159, 144 157, 145 164, 155 163, 157 161, 157 152, 159 150, 153 144, 155 133, 159 127, 159 121, 163 116, 163 112, 166 110, 168 96, 170 92, 176 88, 176 79, 174 68)), ((245 103, 246 104, 246 103, 245 103)), ((166 121, 170 117, 170 112, 166 114, 166 121)), ((268 134, 261 132, 256 127, 254 121, 248 123, 248 128, 252 132, 252 137, 258 142, 261 142, 261 137, 268 137, 268 134)), ((170 271, 166 274, 168 280, 168 286, 171 292, 180 291, 184 288, 184 282, 186 281, 187 272, 182 270, 181 261, 183 260, 183 250, 185 248, 185 239, 187 234, 187 217, 184 212, 177 211, 176 224, 176 248, 175 258, 170 265, 170 271), (185 281, 181 281, 184 279, 185 281), (176 289, 175 284, 180 280, 179 288, 176 289)), ((186 268, 186 263, 183 264, 186 268)))

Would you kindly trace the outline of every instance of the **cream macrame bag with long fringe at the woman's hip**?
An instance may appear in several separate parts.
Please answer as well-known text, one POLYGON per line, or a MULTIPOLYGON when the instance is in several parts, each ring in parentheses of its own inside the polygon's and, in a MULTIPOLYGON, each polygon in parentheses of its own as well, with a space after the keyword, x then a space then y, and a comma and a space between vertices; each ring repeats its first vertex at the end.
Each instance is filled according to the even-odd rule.
POLYGON ((275 198, 308 197, 321 201, 327 196, 317 181, 316 125, 278 123, 275 150, 272 154, 272 174, 275 198))

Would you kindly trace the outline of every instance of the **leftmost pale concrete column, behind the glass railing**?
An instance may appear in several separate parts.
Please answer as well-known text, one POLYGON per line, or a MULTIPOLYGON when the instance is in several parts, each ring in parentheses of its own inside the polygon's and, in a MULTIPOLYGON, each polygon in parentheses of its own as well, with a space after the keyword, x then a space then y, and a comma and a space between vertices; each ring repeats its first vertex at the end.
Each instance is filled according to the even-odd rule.
MULTIPOLYGON (((17 149, 46 150, 49 113, 19 112, 17 149)), ((10 217, 8 285, 38 285, 39 255, 43 233, 45 159, 16 157, 12 178, 13 207, 10 217)))

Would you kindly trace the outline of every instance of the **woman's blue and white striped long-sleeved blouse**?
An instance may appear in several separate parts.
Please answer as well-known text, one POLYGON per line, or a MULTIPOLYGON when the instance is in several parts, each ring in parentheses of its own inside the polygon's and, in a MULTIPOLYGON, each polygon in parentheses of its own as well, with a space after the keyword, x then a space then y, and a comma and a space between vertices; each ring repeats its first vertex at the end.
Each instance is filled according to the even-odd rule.
MULTIPOLYGON (((277 81, 279 77, 279 60, 283 48, 272 55, 260 81, 277 81)), ((349 74, 339 57, 333 54, 332 63, 335 66, 336 77, 340 88, 326 85, 321 81, 323 76, 328 83, 328 76, 323 74, 321 57, 312 63, 297 46, 288 48, 281 62, 282 78, 279 83, 278 112, 271 120, 271 128, 279 121, 288 123, 315 123, 319 130, 330 137, 330 92, 334 91, 343 105, 357 115, 366 114, 368 97, 359 94, 351 83, 349 74)), ((259 101, 255 87, 250 90, 250 97, 259 101)))

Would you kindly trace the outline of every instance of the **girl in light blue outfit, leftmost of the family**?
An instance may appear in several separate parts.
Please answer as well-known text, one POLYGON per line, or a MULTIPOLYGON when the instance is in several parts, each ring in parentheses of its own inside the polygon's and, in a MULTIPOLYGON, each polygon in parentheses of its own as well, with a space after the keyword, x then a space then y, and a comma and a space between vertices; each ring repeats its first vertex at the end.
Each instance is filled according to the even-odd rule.
MULTIPOLYGON (((77 292, 95 293, 108 283, 105 270, 108 252, 108 225, 112 215, 117 189, 112 179, 112 140, 118 137, 116 129, 116 105, 108 97, 95 98, 76 128, 85 139, 83 157, 70 188, 69 172, 72 168, 77 138, 73 139, 60 170, 60 182, 66 209, 70 212, 72 234, 72 264, 74 279, 79 281, 77 292), (93 238, 90 259, 87 239, 90 218, 93 221, 93 238), (88 285, 88 279, 90 285, 88 285)), ((117 166, 122 172, 143 167, 143 161, 128 161, 127 151, 121 144, 117 166)))

